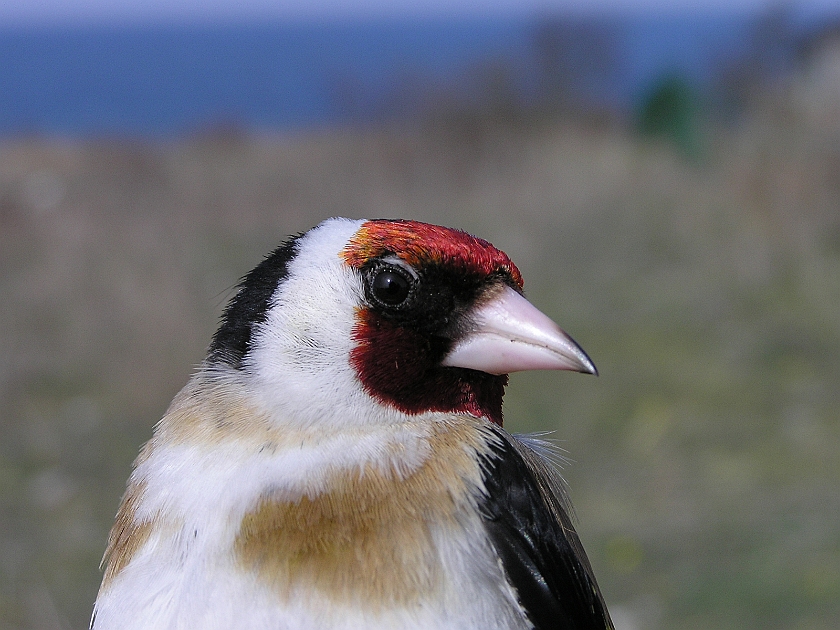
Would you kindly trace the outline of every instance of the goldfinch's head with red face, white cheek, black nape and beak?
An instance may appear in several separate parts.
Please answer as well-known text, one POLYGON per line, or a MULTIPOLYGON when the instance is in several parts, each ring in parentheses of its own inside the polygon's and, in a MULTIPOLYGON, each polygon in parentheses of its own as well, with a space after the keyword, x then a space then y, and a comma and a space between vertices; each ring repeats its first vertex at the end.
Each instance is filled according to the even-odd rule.
POLYGON ((207 364, 302 423, 460 412, 501 424, 509 372, 596 373, 522 296, 505 253, 401 220, 330 219, 275 250, 244 278, 207 364))

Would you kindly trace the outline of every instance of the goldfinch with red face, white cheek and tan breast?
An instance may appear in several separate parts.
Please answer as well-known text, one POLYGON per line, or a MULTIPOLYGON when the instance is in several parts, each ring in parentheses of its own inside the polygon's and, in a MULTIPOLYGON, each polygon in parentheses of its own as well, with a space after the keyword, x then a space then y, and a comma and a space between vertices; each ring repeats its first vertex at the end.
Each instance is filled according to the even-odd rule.
POLYGON ((332 218, 243 277, 134 462, 92 630, 613 628, 508 374, 597 374, 467 232, 332 218))

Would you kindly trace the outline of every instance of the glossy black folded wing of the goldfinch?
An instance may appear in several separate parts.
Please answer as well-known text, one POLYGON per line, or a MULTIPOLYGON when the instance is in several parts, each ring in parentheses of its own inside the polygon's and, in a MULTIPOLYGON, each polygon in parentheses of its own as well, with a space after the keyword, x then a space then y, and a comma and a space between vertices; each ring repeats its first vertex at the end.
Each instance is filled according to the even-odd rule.
POLYGON ((519 601, 537 630, 612 630, 572 525, 559 473, 499 427, 484 469, 482 516, 519 601))

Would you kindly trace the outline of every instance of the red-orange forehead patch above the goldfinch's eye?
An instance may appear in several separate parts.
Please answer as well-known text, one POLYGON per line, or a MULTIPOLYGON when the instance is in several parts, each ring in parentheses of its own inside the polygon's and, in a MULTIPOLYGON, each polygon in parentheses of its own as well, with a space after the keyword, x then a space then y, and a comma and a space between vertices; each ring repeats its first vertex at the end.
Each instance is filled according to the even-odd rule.
POLYGON ((461 230, 419 221, 367 221, 350 239, 342 255, 348 265, 359 268, 386 253, 394 254, 413 267, 449 265, 480 275, 504 271, 522 287, 519 269, 503 251, 461 230))

